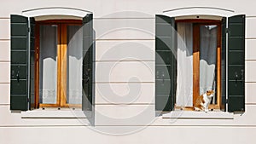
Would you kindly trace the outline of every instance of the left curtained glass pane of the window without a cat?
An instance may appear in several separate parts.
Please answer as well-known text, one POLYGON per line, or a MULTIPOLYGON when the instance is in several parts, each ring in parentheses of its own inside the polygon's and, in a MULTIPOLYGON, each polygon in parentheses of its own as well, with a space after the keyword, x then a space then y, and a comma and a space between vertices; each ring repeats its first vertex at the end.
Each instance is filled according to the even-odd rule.
POLYGON ((57 26, 40 26, 39 103, 55 104, 57 98, 57 26))

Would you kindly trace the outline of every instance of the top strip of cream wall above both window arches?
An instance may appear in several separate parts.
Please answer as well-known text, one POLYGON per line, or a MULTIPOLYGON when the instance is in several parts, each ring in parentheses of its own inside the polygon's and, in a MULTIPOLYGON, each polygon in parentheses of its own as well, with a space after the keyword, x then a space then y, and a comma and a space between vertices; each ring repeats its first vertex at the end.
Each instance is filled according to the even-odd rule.
MULTIPOLYGON (((255 16, 254 10, 255 1, 248 0, 241 2, 239 0, 223 1, 216 0, 183 0, 183 1, 166 1, 166 0, 148 0, 145 1, 126 1, 126 0, 108 0, 108 1, 93 1, 93 0, 75 0, 73 3, 70 1, 32 1, 25 0, 20 3, 19 0, 4 2, 1 4, 2 11, 1 17, 9 17, 9 14, 21 14, 21 11, 27 9, 45 8, 45 7, 67 7, 77 8, 92 11, 95 17, 102 17, 103 15, 113 14, 120 11, 137 11, 146 14, 160 14, 164 10, 178 9, 184 7, 213 7, 235 10, 236 13, 246 13, 248 16, 255 16), (17 4, 19 3, 19 4, 17 4)), ((119 15, 116 15, 119 16, 119 15)), ((121 15, 122 17, 124 15, 121 15)), ((142 15, 137 15, 137 17, 142 15)))

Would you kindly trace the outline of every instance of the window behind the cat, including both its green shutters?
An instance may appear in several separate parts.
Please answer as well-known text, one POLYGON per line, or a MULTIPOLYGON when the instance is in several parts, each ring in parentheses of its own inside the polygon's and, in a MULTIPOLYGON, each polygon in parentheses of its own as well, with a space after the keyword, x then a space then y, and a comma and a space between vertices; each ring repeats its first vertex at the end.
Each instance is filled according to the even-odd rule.
POLYGON ((211 109, 244 111, 244 19, 230 17, 227 28, 225 18, 156 15, 156 110, 193 110, 196 98, 211 89, 211 109))

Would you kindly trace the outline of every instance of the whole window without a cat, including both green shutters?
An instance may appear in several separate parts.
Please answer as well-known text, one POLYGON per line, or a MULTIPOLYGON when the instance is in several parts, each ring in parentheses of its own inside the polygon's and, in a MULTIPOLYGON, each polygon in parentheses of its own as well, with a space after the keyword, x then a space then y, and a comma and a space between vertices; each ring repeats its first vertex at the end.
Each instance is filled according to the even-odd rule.
POLYGON ((11 15, 10 109, 94 104, 92 14, 35 21, 11 15))

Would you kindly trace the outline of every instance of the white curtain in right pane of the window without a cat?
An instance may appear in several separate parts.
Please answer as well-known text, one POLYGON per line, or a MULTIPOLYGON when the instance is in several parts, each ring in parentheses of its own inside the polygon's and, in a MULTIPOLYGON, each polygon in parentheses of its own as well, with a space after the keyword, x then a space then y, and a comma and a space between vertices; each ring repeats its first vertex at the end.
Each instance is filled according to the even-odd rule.
POLYGON ((82 103, 83 29, 67 26, 67 103, 82 103))

